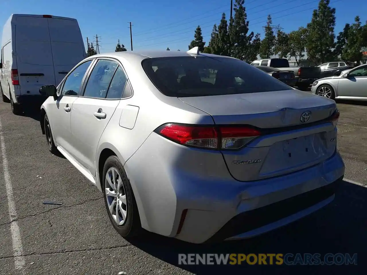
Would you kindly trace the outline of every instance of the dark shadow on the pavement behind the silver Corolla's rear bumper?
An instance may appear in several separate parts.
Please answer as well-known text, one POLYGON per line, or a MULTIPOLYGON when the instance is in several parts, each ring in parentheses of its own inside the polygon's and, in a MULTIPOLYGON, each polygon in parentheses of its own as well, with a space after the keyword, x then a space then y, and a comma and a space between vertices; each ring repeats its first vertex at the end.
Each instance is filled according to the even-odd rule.
MULTIPOLYGON (((190 244, 177 239, 147 233, 128 241, 139 249, 167 263, 194 274, 365 274, 367 250, 367 188, 346 181, 335 199, 323 209, 290 225, 264 235, 240 241, 225 241, 210 245, 190 244), (184 253, 357 253, 357 265, 179 265, 178 254, 184 253), (325 273, 326 272, 326 273, 325 273)), ((291 258, 292 259, 292 258, 291 258)))

